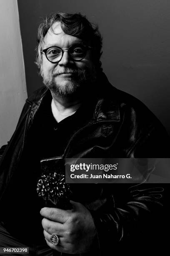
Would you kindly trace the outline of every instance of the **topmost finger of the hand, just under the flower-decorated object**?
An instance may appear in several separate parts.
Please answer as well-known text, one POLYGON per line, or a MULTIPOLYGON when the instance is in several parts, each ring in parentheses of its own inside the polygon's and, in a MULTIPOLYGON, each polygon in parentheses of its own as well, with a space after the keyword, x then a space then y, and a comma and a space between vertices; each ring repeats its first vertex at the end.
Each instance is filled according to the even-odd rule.
POLYGON ((60 223, 65 223, 69 218, 70 214, 66 210, 59 208, 44 207, 40 210, 40 214, 49 219, 60 223))

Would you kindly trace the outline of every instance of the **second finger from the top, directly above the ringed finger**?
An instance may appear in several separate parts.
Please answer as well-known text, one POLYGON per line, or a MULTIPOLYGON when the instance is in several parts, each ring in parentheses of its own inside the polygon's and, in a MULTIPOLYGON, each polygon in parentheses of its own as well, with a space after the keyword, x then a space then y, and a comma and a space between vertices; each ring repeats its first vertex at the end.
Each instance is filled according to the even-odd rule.
POLYGON ((42 219, 42 227, 45 229, 49 234, 59 234, 60 236, 64 233, 64 225, 59 222, 54 222, 48 220, 46 218, 42 219))

